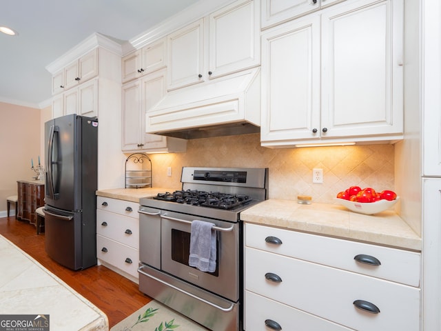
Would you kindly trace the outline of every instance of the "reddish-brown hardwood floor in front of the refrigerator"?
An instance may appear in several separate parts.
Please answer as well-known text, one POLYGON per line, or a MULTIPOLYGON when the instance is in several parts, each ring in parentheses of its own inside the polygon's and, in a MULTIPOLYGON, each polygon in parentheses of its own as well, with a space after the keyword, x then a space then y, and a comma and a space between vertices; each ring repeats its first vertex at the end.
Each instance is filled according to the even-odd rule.
POLYGON ((103 265, 79 271, 59 265, 45 252, 44 233, 37 234, 35 226, 27 221, 2 217, 0 234, 101 309, 109 319, 110 328, 152 300, 138 290, 136 283, 103 265))

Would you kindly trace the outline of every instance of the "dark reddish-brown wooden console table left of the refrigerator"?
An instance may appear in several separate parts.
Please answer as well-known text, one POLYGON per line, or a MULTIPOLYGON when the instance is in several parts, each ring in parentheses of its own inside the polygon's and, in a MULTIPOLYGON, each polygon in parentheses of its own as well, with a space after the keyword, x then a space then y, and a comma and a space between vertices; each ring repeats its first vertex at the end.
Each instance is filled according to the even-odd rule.
POLYGON ((17 181, 17 219, 37 226, 35 210, 44 205, 44 181, 17 181))

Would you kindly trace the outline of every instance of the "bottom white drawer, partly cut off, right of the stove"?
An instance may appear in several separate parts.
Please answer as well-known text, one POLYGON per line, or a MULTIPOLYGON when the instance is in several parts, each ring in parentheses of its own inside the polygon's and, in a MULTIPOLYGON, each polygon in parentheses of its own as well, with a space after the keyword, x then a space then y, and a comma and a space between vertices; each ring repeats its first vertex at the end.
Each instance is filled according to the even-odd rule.
POLYGON ((280 325, 282 330, 307 331, 350 331, 325 319, 302 312, 283 303, 262 297, 256 293, 245 292, 245 330, 269 331, 265 321, 270 319, 280 325))

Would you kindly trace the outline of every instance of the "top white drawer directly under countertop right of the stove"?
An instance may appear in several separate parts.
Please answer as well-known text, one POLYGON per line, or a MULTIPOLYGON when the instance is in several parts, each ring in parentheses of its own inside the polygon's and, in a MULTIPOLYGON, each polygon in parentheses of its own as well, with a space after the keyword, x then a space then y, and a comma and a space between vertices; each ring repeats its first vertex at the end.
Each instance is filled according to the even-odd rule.
POLYGON ((322 237, 291 230, 245 224, 245 244, 267 252, 295 257, 305 261, 367 274, 411 286, 420 285, 420 253, 387 248, 368 243, 322 237), (267 243, 268 237, 276 237, 280 245, 267 243), (380 265, 356 261, 355 257, 374 257, 380 265))

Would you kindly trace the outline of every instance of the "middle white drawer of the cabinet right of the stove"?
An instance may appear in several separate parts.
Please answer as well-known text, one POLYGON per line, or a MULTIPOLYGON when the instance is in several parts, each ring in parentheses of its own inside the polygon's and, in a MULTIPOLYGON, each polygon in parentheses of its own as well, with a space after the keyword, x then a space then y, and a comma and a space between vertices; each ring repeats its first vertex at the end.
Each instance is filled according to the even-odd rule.
POLYGON ((245 248, 246 290, 360 331, 419 330, 420 289, 245 248), (267 273, 281 281, 269 281, 267 273), (380 313, 355 307, 369 301, 380 313))

